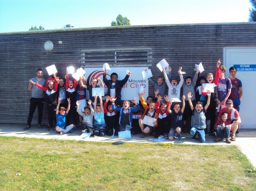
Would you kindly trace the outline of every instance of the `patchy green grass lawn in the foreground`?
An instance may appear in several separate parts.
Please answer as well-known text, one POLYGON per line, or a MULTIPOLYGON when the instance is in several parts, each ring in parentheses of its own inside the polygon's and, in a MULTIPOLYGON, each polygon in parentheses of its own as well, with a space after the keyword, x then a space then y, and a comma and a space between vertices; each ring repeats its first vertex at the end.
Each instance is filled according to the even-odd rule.
POLYGON ((236 146, 0 137, 0 189, 255 190, 236 146))

